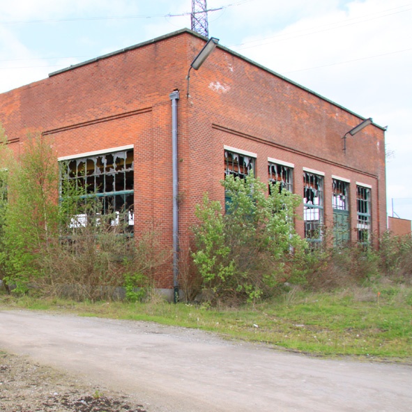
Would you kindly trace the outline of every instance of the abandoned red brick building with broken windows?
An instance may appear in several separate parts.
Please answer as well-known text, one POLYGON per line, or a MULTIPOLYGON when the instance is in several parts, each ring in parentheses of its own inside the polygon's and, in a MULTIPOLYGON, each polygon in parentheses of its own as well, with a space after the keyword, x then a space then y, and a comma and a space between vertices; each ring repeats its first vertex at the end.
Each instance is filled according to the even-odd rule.
MULTIPOLYGON (((384 129, 218 46, 186 76, 205 40, 188 29, 70 66, 0 95, 0 121, 18 155, 28 131, 49 137, 68 174, 86 173, 130 227, 155 222, 172 245, 172 105, 178 130, 178 233, 190 243, 204 192, 224 200, 225 173, 253 169, 301 194, 296 228, 312 241, 365 241, 386 230, 384 129), (178 98, 178 91, 180 98, 178 98), (131 209, 130 209, 131 210, 131 209), (334 223, 335 222, 335 225, 334 223)), ((171 288, 172 270, 158 286, 171 288)))

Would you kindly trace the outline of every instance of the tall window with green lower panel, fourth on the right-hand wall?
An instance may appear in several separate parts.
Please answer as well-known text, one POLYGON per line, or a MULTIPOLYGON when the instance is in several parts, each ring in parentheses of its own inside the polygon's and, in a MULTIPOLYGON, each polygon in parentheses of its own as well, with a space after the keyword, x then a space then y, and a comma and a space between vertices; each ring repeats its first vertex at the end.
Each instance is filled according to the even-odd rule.
POLYGON ((349 181, 332 179, 333 241, 335 246, 345 245, 350 240, 349 181))

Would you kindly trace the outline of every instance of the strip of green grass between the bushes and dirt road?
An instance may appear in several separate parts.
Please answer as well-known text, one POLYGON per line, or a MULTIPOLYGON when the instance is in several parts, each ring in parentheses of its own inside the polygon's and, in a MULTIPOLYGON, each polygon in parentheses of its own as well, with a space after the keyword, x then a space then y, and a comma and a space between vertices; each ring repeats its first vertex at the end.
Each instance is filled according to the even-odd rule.
POLYGON ((0 309, 8 308, 155 321, 316 356, 412 362, 412 288, 402 285, 333 293, 293 289, 270 302, 236 308, 173 305, 160 299, 148 303, 75 303, 0 295, 0 309))

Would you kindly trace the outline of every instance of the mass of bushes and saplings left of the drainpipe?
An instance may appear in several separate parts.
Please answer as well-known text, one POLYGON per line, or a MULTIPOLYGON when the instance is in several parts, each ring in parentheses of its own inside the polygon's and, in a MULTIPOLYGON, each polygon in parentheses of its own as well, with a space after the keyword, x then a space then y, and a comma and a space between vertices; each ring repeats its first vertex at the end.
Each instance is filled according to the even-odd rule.
POLYGON ((56 154, 41 135, 25 139, 19 162, 6 144, 0 151, 3 284, 77 300, 142 298, 169 257, 155 230, 136 240, 86 188, 59 188, 56 154))

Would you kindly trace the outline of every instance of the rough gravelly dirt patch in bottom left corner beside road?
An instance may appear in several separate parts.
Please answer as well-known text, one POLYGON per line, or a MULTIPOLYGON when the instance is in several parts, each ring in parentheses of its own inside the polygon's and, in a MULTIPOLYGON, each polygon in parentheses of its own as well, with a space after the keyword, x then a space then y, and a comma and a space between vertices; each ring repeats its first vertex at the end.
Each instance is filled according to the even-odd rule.
POLYGON ((96 388, 0 351, 1 412, 146 412, 124 394, 96 388))

